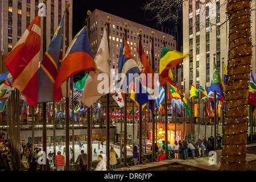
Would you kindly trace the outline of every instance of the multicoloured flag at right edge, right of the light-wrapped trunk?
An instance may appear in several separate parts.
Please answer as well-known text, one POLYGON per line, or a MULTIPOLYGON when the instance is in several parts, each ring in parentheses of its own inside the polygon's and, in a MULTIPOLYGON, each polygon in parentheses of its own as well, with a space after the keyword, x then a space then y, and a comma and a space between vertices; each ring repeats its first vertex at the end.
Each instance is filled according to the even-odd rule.
POLYGON ((253 111, 253 115, 256 115, 256 84, 253 77, 253 73, 251 72, 250 84, 249 84, 249 96, 248 103, 251 106, 251 110, 253 111))

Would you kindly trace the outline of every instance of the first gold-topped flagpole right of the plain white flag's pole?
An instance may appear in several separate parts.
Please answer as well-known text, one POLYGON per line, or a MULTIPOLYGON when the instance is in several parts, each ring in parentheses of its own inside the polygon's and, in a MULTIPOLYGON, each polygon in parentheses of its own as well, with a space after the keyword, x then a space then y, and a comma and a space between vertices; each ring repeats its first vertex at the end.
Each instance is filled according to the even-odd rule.
MULTIPOLYGON (((125 28, 123 29, 125 31, 125 40, 127 40, 127 26, 128 24, 125 23, 125 28)), ((127 91, 127 90, 126 90, 127 91)), ((127 93, 125 93, 125 98, 124 98, 124 102, 125 102, 125 119, 124 119, 124 159, 123 159, 123 167, 128 167, 127 165, 127 93)))

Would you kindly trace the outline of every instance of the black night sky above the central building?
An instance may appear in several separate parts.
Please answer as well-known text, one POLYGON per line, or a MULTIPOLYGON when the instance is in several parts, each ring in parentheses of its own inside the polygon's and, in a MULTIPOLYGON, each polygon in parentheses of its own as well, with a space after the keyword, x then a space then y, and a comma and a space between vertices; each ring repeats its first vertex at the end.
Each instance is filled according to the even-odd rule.
MULTIPOLYGON (((137 22, 139 24, 143 24, 144 26, 148 26, 151 28, 155 28, 156 30, 162 30, 162 27, 156 27, 156 20, 151 20, 152 15, 150 11, 142 10, 142 7, 146 4, 146 1, 140 0, 128 0, 128 1, 120 1, 120 0, 109 0, 109 1, 100 1, 100 0, 73 0, 73 36, 77 34, 84 26, 85 19, 88 17, 87 11, 94 11, 95 9, 102 10, 108 12, 113 15, 120 16, 125 19, 129 19, 133 22, 137 22)), ((182 40, 182 10, 180 10, 180 20, 178 24, 179 31, 179 50, 180 46, 183 44, 182 40)), ((170 28, 174 31, 175 23, 166 22, 163 24, 164 30, 165 27, 170 28)), ((139 27, 138 27, 139 28, 139 27)))

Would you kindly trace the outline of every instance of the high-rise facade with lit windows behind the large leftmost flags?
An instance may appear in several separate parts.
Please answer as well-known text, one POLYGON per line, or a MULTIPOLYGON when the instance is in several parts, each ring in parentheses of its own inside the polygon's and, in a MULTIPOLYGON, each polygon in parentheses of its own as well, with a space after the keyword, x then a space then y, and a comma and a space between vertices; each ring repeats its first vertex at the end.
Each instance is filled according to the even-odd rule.
MULTIPOLYGON (((59 25, 59 22, 64 15, 65 2, 61 0, 47 1, 46 6, 46 46, 49 46, 53 35, 59 25)), ((73 19, 73 1, 69 0, 69 40, 72 40, 72 19, 73 19)), ((11 52, 23 32, 38 15, 39 3, 43 0, 3 0, 0 2, 0 51, 2 54, 0 71, 6 72, 7 69, 3 64, 3 59, 11 52)), ((43 21, 42 21, 43 23, 43 21)), ((64 26, 65 21, 64 21, 64 26)), ((42 26, 43 27, 43 24, 42 26)), ((64 28, 64 36, 65 36, 64 28)), ((64 46, 65 47, 65 46, 64 46)), ((65 50, 64 50, 65 51, 65 50)), ((1 56, 1 55, 0 55, 1 56)), ((41 53, 41 57, 43 52, 41 53)))

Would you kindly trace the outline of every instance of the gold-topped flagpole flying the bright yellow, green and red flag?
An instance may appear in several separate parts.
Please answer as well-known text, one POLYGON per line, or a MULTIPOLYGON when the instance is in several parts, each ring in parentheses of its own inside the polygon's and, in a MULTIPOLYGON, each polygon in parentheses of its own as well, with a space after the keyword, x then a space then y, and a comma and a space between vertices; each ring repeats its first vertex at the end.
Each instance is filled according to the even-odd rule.
MULTIPOLYGON (((164 47, 166 47, 166 36, 165 35, 163 36, 163 44, 164 44, 164 47)), ((167 143, 168 143, 168 111, 167 111, 167 92, 168 92, 168 88, 167 87, 168 87, 168 82, 165 85, 165 92, 164 92, 164 107, 165 107, 164 110, 166 110, 166 112, 164 113, 164 119, 165 119, 165 121, 164 121, 164 129, 165 129, 164 137, 165 137, 165 139, 164 140, 166 140, 165 141, 166 146, 167 146, 167 143)), ((166 160, 167 160, 168 159, 168 147, 166 147, 165 152, 166 152, 165 155, 166 155, 166 160)))

